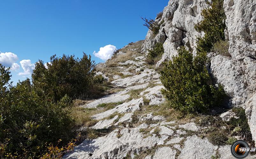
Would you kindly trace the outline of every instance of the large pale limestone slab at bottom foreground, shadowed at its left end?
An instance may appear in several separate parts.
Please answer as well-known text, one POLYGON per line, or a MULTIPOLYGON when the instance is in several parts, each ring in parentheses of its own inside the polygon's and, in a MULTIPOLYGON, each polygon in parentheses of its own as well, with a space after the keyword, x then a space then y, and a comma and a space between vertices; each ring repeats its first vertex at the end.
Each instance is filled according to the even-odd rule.
MULTIPOLYGON (((131 153, 132 156, 139 154, 145 149, 157 144, 163 144, 168 138, 167 135, 157 137, 156 135, 143 138, 138 128, 124 128, 121 130, 121 137, 117 138, 118 129, 110 134, 94 140, 84 140, 71 154, 64 158, 123 158, 131 153)), ((159 152, 160 153, 160 152, 159 152)), ((175 156, 175 155, 174 155, 175 156)))

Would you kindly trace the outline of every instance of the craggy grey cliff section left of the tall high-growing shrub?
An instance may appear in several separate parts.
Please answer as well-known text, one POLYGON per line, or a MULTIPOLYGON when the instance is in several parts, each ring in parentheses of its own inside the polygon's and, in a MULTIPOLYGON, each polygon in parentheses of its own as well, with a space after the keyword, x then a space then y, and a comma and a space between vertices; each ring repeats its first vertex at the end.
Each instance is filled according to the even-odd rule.
POLYGON ((152 31, 148 31, 142 52, 147 54, 147 50, 157 42, 163 43, 165 52, 162 59, 157 62, 157 66, 166 59, 171 59, 173 55, 177 55, 177 48, 181 45, 190 46, 195 52, 196 37, 202 34, 195 31, 194 24, 202 20, 201 10, 207 7, 204 0, 169 1, 163 10, 161 20, 158 19, 159 23, 164 21, 159 33, 154 37, 152 31))

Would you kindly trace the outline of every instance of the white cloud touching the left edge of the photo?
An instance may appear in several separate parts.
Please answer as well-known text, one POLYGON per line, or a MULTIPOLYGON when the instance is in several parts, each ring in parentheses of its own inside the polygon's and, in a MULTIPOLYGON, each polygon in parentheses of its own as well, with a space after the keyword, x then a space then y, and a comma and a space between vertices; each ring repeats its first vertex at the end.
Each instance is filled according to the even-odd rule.
POLYGON ((1 52, 0 53, 0 63, 3 66, 11 67, 11 70, 18 70, 19 65, 14 63, 18 60, 18 56, 12 52, 1 52))

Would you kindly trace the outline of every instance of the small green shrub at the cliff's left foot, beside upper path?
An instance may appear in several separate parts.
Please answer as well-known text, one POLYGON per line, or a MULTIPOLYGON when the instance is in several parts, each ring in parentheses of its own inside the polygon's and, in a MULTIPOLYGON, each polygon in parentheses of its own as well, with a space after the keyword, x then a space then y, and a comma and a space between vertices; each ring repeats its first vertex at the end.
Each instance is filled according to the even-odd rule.
POLYGON ((156 64, 157 61, 159 61, 159 58, 162 58, 162 55, 164 54, 164 46, 161 43, 157 43, 153 49, 148 50, 149 54, 146 57, 146 62, 148 64, 156 64))

